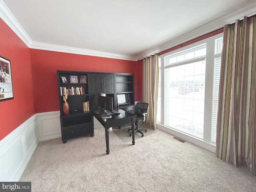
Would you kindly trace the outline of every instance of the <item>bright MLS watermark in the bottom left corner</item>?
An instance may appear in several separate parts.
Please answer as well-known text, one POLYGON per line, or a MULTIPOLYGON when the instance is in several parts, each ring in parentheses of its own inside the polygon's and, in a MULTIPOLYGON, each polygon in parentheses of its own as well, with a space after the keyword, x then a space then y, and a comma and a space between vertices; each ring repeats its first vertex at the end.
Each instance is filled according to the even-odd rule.
POLYGON ((1 192, 31 192, 31 182, 0 182, 1 192))

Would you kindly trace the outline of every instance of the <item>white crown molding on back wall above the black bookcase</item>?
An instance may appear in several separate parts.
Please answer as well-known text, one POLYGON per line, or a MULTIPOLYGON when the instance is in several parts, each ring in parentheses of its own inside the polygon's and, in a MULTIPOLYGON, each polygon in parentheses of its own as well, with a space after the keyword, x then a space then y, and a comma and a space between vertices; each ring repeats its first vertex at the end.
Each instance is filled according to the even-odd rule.
POLYGON ((104 58, 112 58, 112 59, 137 61, 136 57, 128 56, 128 55, 100 52, 100 51, 80 49, 80 48, 60 46, 60 45, 53 45, 53 44, 40 43, 40 42, 32 42, 32 44, 30 45, 30 48, 31 49, 47 50, 47 51, 80 54, 80 55, 88 55, 88 56, 96 56, 96 57, 104 57, 104 58))

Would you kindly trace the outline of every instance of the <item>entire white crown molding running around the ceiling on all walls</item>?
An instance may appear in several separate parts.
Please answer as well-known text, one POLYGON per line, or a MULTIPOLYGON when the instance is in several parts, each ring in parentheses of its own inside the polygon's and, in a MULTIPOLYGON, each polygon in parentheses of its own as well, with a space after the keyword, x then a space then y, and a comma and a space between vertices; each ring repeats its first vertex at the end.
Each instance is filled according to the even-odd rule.
POLYGON ((165 42, 155 48, 151 48, 149 51, 142 52, 138 56, 129 56, 129 55, 121 55, 121 54, 114 54, 108 52, 99 52, 94 50, 85 50, 80 48, 72 48, 66 46, 58 46, 52 44, 45 44, 40 42, 32 42, 28 34, 25 30, 20 26, 16 18, 10 12, 8 7, 4 4, 2 0, 0 0, 0 17, 6 24, 18 35, 18 37, 29 47, 33 49, 40 49, 40 50, 49 50, 49 51, 56 51, 56 52, 65 52, 65 53, 72 53, 72 54, 82 54, 88 56, 97 56, 97 57, 104 57, 104 58, 114 58, 114 59, 121 59, 121 60, 130 60, 130 61, 137 61, 141 58, 144 58, 148 55, 155 54, 168 48, 174 47, 182 42, 186 42, 198 36, 207 34, 208 32, 212 32, 213 30, 222 28, 225 24, 233 23, 236 19, 242 19, 244 16, 251 16, 256 12, 256 2, 241 8, 240 10, 236 10, 228 15, 221 16, 216 20, 212 20, 206 24, 198 26, 193 30, 188 31, 185 34, 177 36, 172 40, 165 42))

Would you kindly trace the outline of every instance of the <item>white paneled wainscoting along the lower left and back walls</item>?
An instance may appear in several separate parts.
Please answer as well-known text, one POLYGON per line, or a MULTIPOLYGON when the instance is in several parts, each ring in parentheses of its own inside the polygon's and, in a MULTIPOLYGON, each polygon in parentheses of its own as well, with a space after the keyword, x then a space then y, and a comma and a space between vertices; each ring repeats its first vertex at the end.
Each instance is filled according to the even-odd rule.
MULTIPOLYGON (((104 127, 94 118, 97 128, 104 127)), ((34 114, 0 141, 0 181, 18 182, 38 142, 60 137, 60 111, 34 114)))

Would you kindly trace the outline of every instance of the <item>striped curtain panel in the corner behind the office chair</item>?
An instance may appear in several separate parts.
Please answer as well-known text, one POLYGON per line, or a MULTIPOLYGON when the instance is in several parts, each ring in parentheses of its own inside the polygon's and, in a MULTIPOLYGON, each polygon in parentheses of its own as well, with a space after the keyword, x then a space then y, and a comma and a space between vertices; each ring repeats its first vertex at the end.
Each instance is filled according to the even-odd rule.
POLYGON ((148 114, 144 124, 156 130, 156 109, 158 96, 158 54, 143 59, 143 102, 148 103, 148 114))

